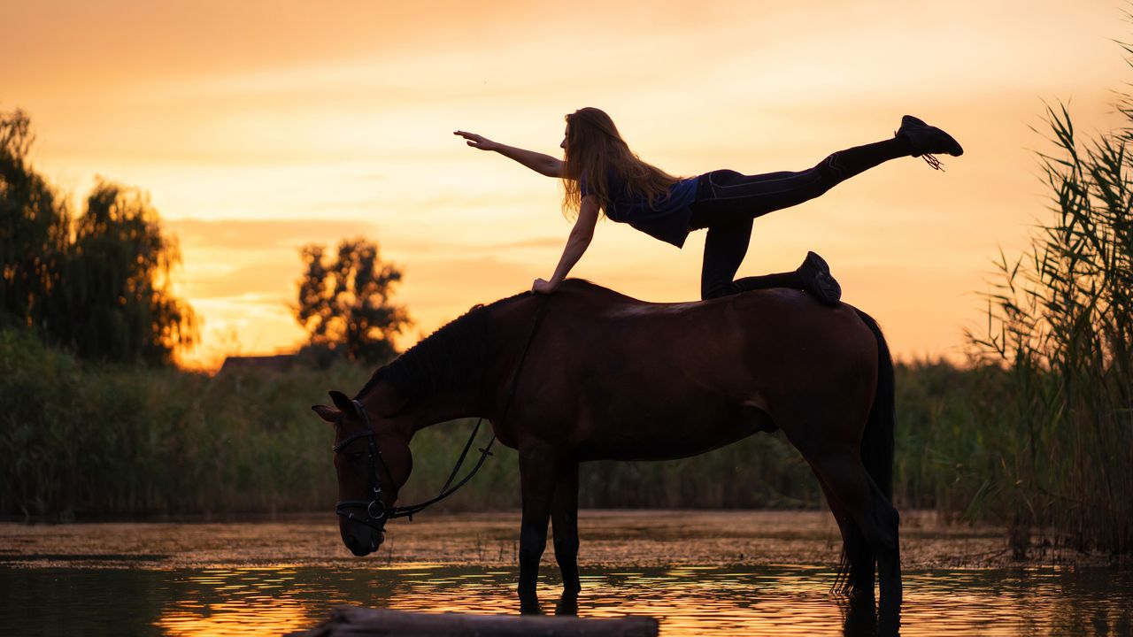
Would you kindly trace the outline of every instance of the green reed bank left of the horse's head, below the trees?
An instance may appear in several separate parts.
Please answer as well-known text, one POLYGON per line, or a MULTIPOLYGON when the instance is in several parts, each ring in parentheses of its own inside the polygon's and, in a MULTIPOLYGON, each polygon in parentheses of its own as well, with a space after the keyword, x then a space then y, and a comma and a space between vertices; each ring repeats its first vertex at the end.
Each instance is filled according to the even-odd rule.
MULTIPOLYGON (((322 375, 339 387, 366 377, 352 367, 322 375)), ((0 511, 70 519, 325 506, 331 434, 308 410, 315 393, 306 372, 210 377, 79 363, 0 331, 0 511)))

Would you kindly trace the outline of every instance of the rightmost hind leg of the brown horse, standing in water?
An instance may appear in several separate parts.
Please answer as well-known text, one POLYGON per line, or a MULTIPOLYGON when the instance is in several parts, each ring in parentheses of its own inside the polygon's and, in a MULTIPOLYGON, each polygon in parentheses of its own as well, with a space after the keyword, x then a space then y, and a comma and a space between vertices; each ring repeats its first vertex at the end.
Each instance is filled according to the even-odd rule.
MULTIPOLYGON (((877 558, 881 613, 898 612, 901 550, 897 510, 869 477, 855 450, 847 447, 819 455, 807 455, 807 459, 819 479, 829 489, 827 498, 833 494, 833 500, 836 500, 850 515, 877 558)), ((853 537, 853 534, 845 534, 844 537, 853 537)), ((851 549, 851 544, 847 543, 846 547, 851 549)))

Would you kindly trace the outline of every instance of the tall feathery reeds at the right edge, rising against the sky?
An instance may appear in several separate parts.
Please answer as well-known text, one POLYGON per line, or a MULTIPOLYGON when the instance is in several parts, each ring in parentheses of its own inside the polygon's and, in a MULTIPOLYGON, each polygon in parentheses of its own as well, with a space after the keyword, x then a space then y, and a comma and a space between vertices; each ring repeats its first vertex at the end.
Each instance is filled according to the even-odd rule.
MULTIPOLYGON (((1123 109, 1127 124, 1133 111, 1123 109)), ((1048 109, 1042 154, 1054 219, 1000 255, 988 325, 970 334, 1006 370, 988 506, 1024 541, 1057 529, 1074 546, 1133 547, 1133 158, 1130 128, 1080 143, 1048 109)))

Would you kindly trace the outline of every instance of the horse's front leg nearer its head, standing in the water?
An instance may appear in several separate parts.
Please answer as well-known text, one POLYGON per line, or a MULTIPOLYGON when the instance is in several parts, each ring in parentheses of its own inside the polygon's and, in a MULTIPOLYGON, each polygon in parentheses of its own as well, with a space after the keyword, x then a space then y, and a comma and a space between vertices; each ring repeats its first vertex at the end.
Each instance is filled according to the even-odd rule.
POLYGON ((520 447, 523 520, 519 527, 519 610, 525 614, 542 612, 535 588, 539 579, 539 560, 547 547, 547 521, 557 473, 557 458, 548 447, 520 447))

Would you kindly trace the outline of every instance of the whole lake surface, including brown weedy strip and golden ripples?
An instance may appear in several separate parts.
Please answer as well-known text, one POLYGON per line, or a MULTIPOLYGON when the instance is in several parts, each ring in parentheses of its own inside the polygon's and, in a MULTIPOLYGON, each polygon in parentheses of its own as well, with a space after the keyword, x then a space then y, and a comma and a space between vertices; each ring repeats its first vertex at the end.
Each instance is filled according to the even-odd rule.
MULTIPOLYGON (((326 516, 5 524, 0 627, 6 635, 279 635, 341 605, 516 612, 516 523, 506 513, 391 525, 391 546, 367 559, 346 552, 326 516)), ((579 614, 648 614, 666 636, 843 635, 846 609, 829 594, 830 524, 820 513, 585 513, 579 614)), ((994 535, 906 528, 902 635, 1133 634, 1133 570, 1012 566, 994 535)), ((550 612, 561 588, 550 560, 543 572, 550 612)))

